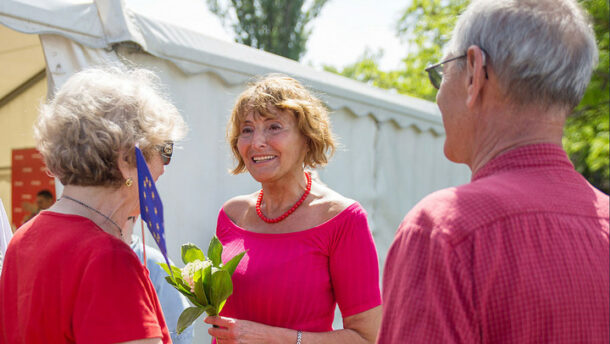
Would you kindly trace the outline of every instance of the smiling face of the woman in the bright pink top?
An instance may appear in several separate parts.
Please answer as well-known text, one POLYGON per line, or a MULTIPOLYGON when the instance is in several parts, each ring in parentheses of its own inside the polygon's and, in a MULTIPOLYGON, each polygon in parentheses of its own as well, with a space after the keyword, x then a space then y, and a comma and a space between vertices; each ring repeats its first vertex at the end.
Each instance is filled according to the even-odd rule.
POLYGON ((308 147, 294 114, 270 107, 264 116, 248 113, 240 126, 237 149, 252 177, 266 182, 295 172, 302 176, 308 147))

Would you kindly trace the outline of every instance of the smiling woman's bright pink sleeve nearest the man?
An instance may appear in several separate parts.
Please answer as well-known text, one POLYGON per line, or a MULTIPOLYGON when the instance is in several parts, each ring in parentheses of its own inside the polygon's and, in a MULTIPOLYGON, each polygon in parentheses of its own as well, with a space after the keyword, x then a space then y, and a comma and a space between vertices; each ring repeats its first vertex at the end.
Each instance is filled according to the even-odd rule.
POLYGON ((331 239, 330 275, 344 318, 381 304, 377 251, 366 212, 359 206, 331 239))

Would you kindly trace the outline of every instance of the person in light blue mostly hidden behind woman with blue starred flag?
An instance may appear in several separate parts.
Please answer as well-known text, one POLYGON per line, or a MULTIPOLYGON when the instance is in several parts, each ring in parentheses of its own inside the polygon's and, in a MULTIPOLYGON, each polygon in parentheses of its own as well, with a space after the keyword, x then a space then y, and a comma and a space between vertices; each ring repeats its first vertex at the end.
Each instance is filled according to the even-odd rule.
MULTIPOLYGON (((125 243, 131 247, 131 249, 138 255, 140 261, 144 259, 144 245, 139 236, 133 234, 134 224, 136 222, 136 216, 130 216, 125 222, 123 227, 123 237, 125 243)), ((163 310, 163 316, 165 323, 169 329, 169 335, 172 338, 174 344, 190 344, 193 342, 194 327, 191 325, 187 327, 182 333, 178 334, 176 331, 176 325, 178 324, 178 318, 182 311, 190 307, 190 304, 186 297, 176 288, 172 287, 167 283, 165 277, 167 273, 157 264, 165 263, 163 254, 156 247, 146 245, 146 268, 149 271, 149 278, 155 288, 159 302, 161 303, 161 309, 163 310)), ((174 263, 170 260, 170 264, 174 263)))

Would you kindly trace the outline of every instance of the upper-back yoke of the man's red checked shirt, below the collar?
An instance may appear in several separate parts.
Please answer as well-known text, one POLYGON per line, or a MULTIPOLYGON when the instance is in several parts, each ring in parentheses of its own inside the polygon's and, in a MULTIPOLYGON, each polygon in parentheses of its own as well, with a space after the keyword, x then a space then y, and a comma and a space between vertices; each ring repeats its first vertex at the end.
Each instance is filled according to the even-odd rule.
POLYGON ((566 182, 548 171, 526 177, 503 173, 436 191, 413 207, 401 228, 433 231, 459 241, 496 221, 524 214, 608 218, 608 195, 586 180, 566 182))

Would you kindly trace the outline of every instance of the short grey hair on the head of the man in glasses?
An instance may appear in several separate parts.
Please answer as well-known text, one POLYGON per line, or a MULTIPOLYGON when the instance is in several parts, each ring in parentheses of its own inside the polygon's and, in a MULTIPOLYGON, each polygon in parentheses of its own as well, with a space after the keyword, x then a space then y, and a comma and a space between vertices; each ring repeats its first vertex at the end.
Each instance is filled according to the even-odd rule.
POLYGON ((520 105, 574 108, 598 59, 589 16, 575 0, 473 0, 447 54, 471 45, 487 53, 504 93, 520 105))

